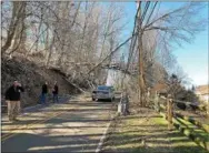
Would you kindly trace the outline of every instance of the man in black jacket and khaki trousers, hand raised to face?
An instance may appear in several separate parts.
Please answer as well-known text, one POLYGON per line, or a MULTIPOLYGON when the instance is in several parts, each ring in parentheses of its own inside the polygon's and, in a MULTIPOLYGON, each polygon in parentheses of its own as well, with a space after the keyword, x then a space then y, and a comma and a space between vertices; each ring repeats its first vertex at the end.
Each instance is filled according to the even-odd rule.
POLYGON ((13 84, 6 91, 9 121, 18 121, 17 116, 21 109, 20 92, 24 92, 24 89, 18 81, 14 81, 13 84))

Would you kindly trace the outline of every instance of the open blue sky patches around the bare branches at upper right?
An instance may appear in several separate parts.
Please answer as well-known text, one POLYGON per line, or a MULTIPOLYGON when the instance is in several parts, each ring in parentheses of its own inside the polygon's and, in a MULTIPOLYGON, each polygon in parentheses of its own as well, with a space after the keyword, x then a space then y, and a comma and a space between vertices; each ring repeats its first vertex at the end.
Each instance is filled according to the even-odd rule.
MULTIPOLYGON (((178 8, 182 2, 161 2, 161 9, 178 8)), ((205 7, 200 16, 208 19, 208 8, 205 7)), ((130 29, 133 28, 135 14, 136 14, 136 2, 126 2, 126 12, 129 18, 127 31, 123 33, 125 38, 130 35, 130 29)), ((209 44, 208 44, 208 26, 206 30, 198 33, 196 39, 191 43, 182 43, 182 48, 177 47, 172 51, 179 65, 187 73, 191 80, 191 84, 202 85, 209 84, 209 44)))

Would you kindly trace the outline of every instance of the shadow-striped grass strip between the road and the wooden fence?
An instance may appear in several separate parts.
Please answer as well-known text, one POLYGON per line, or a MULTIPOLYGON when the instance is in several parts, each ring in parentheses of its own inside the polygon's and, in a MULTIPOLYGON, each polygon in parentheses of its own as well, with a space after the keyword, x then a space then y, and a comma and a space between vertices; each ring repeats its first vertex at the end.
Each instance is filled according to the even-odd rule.
POLYGON ((103 152, 206 153, 178 131, 169 131, 167 121, 148 109, 119 118, 103 152))

